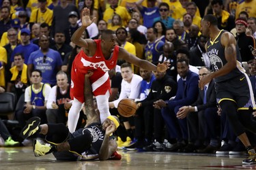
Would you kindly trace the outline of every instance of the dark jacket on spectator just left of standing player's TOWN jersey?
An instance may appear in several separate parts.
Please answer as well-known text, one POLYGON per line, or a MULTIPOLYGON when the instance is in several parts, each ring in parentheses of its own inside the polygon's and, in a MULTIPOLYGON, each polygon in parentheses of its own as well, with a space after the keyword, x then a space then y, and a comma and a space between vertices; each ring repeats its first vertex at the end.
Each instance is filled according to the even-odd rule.
POLYGON ((201 54, 201 51, 199 50, 198 46, 195 48, 192 48, 189 51, 189 64, 193 66, 205 66, 205 63, 203 61, 203 56, 201 54))

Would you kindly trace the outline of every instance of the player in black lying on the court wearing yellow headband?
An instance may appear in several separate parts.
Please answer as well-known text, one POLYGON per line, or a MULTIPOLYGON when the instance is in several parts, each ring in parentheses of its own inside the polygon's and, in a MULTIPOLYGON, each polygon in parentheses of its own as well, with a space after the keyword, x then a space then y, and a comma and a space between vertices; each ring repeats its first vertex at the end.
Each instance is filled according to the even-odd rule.
POLYGON ((89 77, 92 74, 92 72, 85 74, 85 112, 88 118, 85 128, 70 133, 64 124, 42 124, 39 126, 40 118, 37 117, 31 118, 27 122, 20 134, 23 138, 27 138, 34 133, 41 133, 46 135, 48 141, 45 144, 40 143, 38 140, 34 141, 33 150, 35 156, 43 156, 53 152, 57 160, 88 160, 96 158, 106 160, 116 153, 117 143, 111 134, 119 126, 119 120, 115 116, 108 116, 100 124, 99 114, 96 113, 94 108, 91 84, 89 82, 89 77))

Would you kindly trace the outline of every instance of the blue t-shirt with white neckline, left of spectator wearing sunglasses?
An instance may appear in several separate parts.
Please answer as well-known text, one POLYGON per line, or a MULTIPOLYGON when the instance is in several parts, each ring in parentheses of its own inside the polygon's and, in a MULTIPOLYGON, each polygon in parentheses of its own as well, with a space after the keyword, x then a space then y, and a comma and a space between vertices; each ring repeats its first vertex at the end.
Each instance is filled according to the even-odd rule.
POLYGON ((154 18, 158 18, 160 13, 158 7, 143 7, 141 15, 143 17, 143 25, 150 28, 154 24, 154 18))

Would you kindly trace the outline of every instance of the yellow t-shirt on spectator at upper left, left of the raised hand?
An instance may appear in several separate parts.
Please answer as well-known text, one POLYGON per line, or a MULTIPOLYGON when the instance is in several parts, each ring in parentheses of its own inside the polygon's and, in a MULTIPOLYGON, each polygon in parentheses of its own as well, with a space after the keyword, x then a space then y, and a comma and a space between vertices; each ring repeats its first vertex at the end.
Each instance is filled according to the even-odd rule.
POLYGON ((53 11, 46 8, 46 12, 41 12, 40 9, 35 9, 31 12, 29 22, 35 22, 42 24, 46 22, 49 26, 51 26, 53 22, 53 11))

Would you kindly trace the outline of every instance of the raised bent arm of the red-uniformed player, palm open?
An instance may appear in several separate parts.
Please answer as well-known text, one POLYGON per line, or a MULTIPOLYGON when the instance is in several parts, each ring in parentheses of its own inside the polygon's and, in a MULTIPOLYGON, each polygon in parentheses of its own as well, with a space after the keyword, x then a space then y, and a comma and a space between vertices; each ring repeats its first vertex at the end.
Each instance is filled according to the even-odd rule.
POLYGON ((96 20, 96 18, 93 18, 92 20, 89 17, 89 9, 87 7, 85 7, 83 9, 82 12, 82 16, 81 16, 81 21, 82 21, 82 25, 81 27, 79 27, 79 29, 77 29, 74 34, 71 37, 71 41, 76 44, 77 46, 81 46, 83 48, 88 49, 90 46, 90 43, 93 42, 92 39, 83 39, 81 38, 83 32, 85 31, 85 29, 87 27, 89 27, 89 25, 94 22, 94 20, 96 20))

